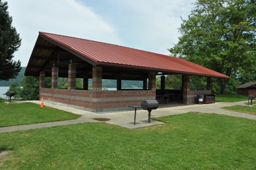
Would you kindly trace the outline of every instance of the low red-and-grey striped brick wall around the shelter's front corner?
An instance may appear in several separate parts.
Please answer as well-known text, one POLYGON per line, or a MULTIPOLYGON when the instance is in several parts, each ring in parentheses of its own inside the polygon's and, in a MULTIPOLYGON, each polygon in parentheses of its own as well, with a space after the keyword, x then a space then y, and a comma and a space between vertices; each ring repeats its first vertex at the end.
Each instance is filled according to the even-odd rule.
POLYGON ((79 89, 40 89, 40 98, 90 112, 125 110, 142 100, 155 99, 155 91, 87 91, 79 89))

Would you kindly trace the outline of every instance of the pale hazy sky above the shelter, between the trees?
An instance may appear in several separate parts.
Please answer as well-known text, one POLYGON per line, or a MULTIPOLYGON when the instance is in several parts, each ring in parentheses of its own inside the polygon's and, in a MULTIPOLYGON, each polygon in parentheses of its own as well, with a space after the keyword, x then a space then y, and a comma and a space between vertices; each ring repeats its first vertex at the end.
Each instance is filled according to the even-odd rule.
POLYGON ((181 18, 196 0, 2 0, 21 46, 13 60, 26 67, 39 32, 73 36, 170 55, 181 18))

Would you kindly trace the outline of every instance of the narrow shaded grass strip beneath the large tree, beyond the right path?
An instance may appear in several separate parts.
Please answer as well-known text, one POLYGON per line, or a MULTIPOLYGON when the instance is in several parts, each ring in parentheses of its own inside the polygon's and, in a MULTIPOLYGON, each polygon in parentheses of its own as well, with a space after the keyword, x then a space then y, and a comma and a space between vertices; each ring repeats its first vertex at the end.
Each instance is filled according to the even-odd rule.
POLYGON ((245 101, 245 100, 248 100, 247 95, 238 95, 238 94, 215 95, 215 101, 236 102, 236 101, 245 101))

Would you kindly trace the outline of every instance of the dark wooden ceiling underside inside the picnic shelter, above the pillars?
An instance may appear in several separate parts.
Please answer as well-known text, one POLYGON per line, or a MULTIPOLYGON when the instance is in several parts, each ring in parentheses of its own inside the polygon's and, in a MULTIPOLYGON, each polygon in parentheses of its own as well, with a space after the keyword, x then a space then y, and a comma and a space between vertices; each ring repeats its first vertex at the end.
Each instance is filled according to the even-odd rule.
MULTIPOLYGON (((44 71, 45 76, 50 77, 51 69, 55 66, 58 67, 58 77, 67 78, 70 63, 76 64, 76 78, 92 78, 92 64, 39 37, 33 48, 25 75, 39 76, 39 73, 44 71)), ((144 80, 148 78, 147 70, 128 69, 121 66, 103 66, 102 68, 103 79, 144 80)))

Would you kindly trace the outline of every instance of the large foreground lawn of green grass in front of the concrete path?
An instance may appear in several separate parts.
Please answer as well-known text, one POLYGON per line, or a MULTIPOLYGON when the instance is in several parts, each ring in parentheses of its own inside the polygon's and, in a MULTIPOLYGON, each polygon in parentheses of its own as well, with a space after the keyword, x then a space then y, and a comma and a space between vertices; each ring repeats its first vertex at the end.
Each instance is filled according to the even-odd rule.
POLYGON ((125 129, 80 123, 0 134, 0 169, 256 169, 256 121, 186 113, 125 129))

